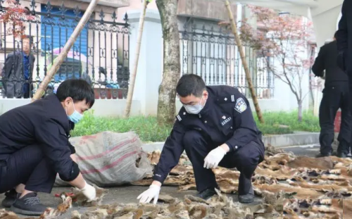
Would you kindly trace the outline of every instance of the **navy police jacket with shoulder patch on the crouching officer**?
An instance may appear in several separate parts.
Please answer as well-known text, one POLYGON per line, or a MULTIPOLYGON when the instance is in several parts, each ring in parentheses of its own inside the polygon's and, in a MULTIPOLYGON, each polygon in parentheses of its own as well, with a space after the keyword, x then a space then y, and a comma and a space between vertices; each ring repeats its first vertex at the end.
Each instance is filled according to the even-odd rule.
POLYGON ((198 130, 215 147, 226 143, 230 151, 237 151, 250 142, 261 141, 262 133, 254 121, 249 101, 238 89, 229 86, 207 87, 206 105, 199 114, 192 115, 181 108, 171 134, 166 139, 153 180, 161 183, 177 165, 184 151, 182 139, 189 130, 198 130))

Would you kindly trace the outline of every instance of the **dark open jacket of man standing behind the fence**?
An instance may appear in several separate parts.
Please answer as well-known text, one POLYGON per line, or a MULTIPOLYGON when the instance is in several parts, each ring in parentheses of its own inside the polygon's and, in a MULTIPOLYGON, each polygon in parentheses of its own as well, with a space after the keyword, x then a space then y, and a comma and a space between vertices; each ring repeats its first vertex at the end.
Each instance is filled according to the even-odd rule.
MULTIPOLYGON (((30 81, 32 80, 34 61, 35 57, 30 54, 30 81)), ((11 52, 7 55, 1 76, 7 98, 21 98, 24 95, 26 98, 29 97, 29 90, 27 91, 28 94, 23 93, 23 83, 25 82, 25 74, 23 71, 22 51, 11 52)))

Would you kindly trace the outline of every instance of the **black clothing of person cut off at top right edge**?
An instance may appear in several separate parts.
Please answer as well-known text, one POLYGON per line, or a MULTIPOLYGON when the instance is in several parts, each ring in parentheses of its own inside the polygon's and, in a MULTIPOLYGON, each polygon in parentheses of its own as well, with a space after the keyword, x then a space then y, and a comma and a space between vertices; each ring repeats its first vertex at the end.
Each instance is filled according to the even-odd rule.
POLYGON ((352 72, 352 1, 345 0, 341 8, 341 20, 337 31, 337 50, 339 55, 337 63, 348 74, 352 72), (350 45, 350 46, 348 46, 350 45))

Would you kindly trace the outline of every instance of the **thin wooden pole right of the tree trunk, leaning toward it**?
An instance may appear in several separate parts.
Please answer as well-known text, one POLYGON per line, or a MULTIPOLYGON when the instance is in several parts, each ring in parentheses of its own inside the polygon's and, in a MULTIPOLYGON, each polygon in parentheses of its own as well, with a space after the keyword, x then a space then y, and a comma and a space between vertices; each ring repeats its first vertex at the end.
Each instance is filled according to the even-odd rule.
POLYGON ((256 92, 255 92, 254 87, 253 87, 253 82, 252 82, 252 79, 251 79, 251 73, 249 72, 249 67, 248 67, 248 63, 246 61, 246 56, 244 55, 244 48, 242 46, 241 39, 239 39, 239 34, 237 32, 237 25, 234 22, 234 15, 232 14, 232 11, 231 11, 231 8, 230 8, 230 2, 228 0, 225 0, 225 6, 227 8, 227 13, 228 13, 228 15, 230 17, 230 24, 231 24, 232 32, 234 34, 234 38, 236 39, 236 43, 237 43, 237 46, 239 48, 239 55, 241 56, 242 65, 244 66, 244 72, 246 73, 246 80, 248 82, 249 90, 251 91, 253 104, 254 104, 254 107, 256 108, 256 113, 258 115, 258 119, 259 119, 260 123, 264 123, 264 118, 263 118, 262 112, 260 111, 257 95, 256 95, 256 92))

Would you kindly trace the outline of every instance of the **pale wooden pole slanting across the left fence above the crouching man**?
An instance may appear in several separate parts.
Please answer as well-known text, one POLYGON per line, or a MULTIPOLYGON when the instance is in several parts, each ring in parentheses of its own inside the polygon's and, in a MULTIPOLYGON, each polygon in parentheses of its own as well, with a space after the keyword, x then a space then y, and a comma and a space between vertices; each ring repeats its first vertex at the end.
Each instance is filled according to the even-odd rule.
POLYGON ((32 98, 32 102, 36 101, 37 99, 40 99, 45 94, 46 87, 48 87, 49 82, 54 77, 58 69, 60 68, 60 65, 63 63, 63 60, 66 58, 73 44, 75 44, 75 41, 78 35, 80 35, 80 32, 82 32, 84 25, 86 25, 86 23, 88 22, 98 2, 99 0, 92 0, 90 2, 87 10, 84 12, 83 17, 80 20, 80 23, 77 24, 75 30, 73 31, 73 34, 70 36, 70 39, 68 39, 68 42, 66 42, 65 46, 63 47, 63 50, 54 61, 53 65, 49 69, 49 72, 44 77, 44 80, 42 81, 42 83, 40 83, 39 88, 37 89, 37 92, 35 92, 32 98))

